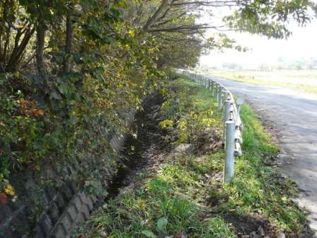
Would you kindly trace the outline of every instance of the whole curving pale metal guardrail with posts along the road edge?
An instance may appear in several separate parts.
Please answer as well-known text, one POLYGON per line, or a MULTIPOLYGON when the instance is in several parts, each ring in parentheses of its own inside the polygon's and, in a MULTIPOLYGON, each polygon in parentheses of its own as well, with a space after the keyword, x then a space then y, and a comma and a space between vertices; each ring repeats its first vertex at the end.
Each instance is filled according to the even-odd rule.
POLYGON ((234 156, 242 156, 241 145, 243 139, 241 131, 243 130, 243 124, 240 118, 240 108, 243 104, 243 99, 237 98, 235 100, 234 96, 225 86, 201 74, 195 74, 182 69, 179 69, 178 72, 209 89, 218 103, 218 110, 223 111, 223 142, 226 149, 224 183, 229 183, 234 177, 234 156))

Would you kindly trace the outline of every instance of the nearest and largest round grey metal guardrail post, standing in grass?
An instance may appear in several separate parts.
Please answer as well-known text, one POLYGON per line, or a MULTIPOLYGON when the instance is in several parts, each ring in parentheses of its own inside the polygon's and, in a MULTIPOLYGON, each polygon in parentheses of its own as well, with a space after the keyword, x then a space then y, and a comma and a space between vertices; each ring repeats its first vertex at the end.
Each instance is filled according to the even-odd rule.
POLYGON ((234 121, 226 121, 226 161, 224 164, 224 183, 230 183, 234 177, 234 128, 234 121))

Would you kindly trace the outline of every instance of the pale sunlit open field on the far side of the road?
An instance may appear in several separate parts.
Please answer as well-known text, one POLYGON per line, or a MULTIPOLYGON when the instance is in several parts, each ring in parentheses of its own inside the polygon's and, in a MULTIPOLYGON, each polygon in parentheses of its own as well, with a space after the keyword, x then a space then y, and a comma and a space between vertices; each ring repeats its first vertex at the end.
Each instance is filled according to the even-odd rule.
POLYGON ((317 70, 275 70, 255 72, 250 70, 214 69, 205 71, 216 77, 223 77, 247 84, 280 86, 296 91, 317 94, 317 70))

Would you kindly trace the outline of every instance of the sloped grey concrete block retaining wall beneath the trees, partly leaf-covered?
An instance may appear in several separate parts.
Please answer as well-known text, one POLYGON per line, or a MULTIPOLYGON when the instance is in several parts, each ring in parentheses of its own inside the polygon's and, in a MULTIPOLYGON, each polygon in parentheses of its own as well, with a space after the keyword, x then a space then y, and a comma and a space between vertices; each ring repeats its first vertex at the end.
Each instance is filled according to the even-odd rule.
MULTIPOLYGON (((142 101, 146 105, 153 95, 147 96, 142 101)), ((134 121, 136 111, 126 113, 131 124, 134 121)), ((110 143, 115 152, 120 152, 125 142, 125 135, 115 133, 110 143)), ((46 170, 56 174, 56 168, 48 165, 46 170)), ((21 181, 26 199, 16 203, 0 203, 0 238, 62 238, 69 237, 72 230, 83 223, 91 214, 98 202, 95 196, 81 193, 76 189, 75 182, 64 184, 59 191, 54 186, 37 189, 42 186, 40 181, 28 178, 21 181), (30 209, 28 198, 32 203, 30 209), (38 204, 33 198, 37 198, 38 204), (44 207, 40 215, 34 214, 36 207, 44 207), (35 208, 35 209, 34 209, 35 208), (35 218, 38 217, 38 218, 35 218), (30 232, 32 231, 32 232, 30 232)))

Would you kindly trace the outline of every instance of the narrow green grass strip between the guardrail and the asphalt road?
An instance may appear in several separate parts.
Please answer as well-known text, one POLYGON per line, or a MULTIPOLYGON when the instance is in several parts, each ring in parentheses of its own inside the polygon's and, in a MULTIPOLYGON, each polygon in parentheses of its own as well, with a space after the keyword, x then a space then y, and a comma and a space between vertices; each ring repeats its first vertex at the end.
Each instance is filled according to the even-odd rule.
POLYGON ((235 194, 231 198, 238 201, 238 213, 262 214, 281 231, 300 231, 305 216, 291 201, 296 194, 294 184, 282 179, 270 166, 278 148, 246 104, 241 109, 241 118, 245 126, 243 157, 236 161, 236 177, 228 188, 235 194))

